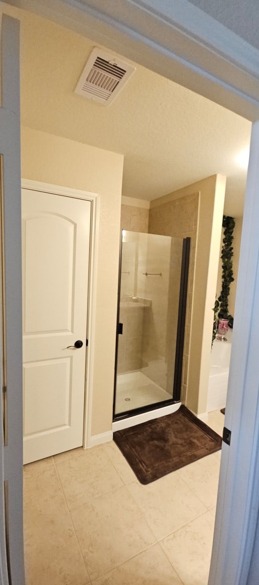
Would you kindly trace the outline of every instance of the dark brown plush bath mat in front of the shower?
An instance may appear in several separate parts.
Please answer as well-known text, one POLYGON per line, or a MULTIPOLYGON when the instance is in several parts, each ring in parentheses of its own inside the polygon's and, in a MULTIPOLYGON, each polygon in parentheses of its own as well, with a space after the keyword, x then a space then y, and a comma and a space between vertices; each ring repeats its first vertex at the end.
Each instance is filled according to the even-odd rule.
POLYGON ((113 433, 140 483, 151 483, 221 448, 222 439, 185 406, 113 433))

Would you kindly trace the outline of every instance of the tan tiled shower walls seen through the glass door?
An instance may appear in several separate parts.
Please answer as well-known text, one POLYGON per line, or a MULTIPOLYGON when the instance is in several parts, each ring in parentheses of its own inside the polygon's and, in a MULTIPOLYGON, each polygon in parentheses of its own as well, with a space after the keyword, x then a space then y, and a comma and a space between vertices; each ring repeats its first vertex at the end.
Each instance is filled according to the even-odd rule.
POLYGON ((169 393, 174 380, 181 258, 181 238, 128 230, 123 234, 118 373, 141 369, 169 393))

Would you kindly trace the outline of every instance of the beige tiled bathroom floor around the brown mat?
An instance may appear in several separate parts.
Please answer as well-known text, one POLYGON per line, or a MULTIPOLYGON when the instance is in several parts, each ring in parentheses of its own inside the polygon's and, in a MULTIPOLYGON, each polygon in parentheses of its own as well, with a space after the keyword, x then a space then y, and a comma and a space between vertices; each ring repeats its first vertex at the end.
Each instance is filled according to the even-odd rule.
POLYGON ((27 585, 207 585, 219 463, 148 486, 113 442, 26 465, 27 585))

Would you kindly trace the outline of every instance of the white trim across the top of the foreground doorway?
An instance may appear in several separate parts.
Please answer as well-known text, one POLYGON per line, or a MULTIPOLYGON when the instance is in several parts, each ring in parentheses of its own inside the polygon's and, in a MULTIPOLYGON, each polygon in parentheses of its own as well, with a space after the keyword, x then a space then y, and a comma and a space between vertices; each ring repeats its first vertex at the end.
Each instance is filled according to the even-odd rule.
POLYGON ((94 37, 248 119, 259 117, 259 51, 188 0, 120 0, 119 9, 102 0, 8 2, 94 37))

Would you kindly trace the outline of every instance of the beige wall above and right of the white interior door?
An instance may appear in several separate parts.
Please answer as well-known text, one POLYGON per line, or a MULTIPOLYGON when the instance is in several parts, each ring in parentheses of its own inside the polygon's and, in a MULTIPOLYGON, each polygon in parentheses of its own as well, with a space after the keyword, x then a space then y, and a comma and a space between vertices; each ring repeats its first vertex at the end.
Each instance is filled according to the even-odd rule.
POLYGON ((120 154, 22 128, 23 178, 99 194, 91 435, 112 428, 122 170, 120 154))

